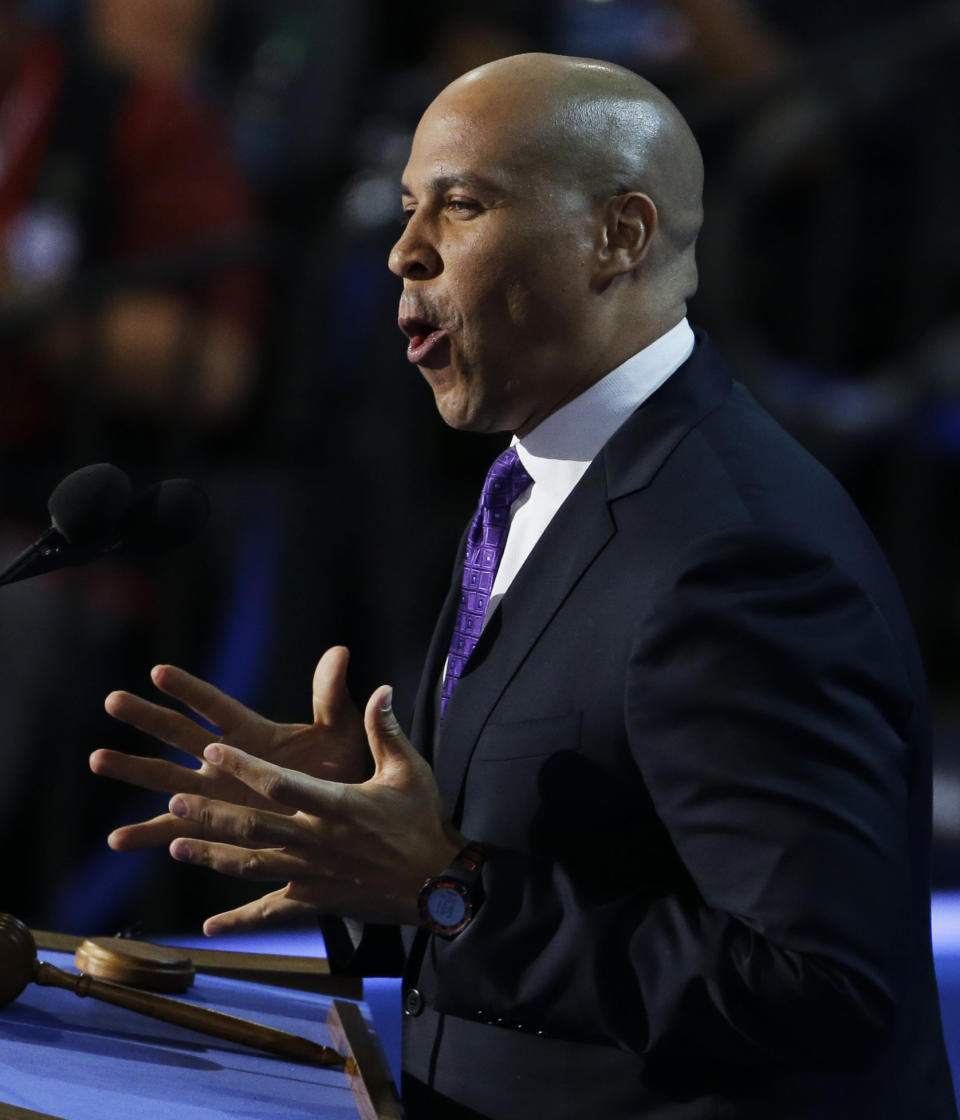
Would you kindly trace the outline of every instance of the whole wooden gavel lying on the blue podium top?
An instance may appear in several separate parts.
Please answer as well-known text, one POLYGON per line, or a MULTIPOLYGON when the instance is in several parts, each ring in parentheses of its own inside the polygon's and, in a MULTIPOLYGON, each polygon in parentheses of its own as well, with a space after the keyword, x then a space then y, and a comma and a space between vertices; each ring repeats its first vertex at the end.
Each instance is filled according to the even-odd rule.
POLYGON ((311 1065, 343 1065, 346 1058, 330 1046, 320 1046, 299 1035, 277 1030, 259 1023, 212 1011, 206 1007, 185 1004, 178 999, 157 996, 110 980, 96 980, 84 972, 72 974, 37 959, 34 935, 11 914, 0 914, 0 1007, 12 1002, 28 983, 48 988, 65 988, 77 996, 94 999, 115 1007, 125 1007, 140 1015, 149 1015, 164 1023, 198 1030, 215 1038, 252 1046, 271 1054, 279 1054, 297 1062, 311 1065))

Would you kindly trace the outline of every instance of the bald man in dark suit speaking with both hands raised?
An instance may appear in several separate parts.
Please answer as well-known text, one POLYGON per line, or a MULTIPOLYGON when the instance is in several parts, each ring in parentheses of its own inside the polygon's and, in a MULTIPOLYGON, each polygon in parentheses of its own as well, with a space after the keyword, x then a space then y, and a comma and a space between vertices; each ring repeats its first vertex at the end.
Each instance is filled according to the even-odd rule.
POLYGON ((287 883, 207 933, 410 927, 414 1118, 956 1117, 920 660, 847 496, 693 344, 700 180, 673 106, 603 63, 502 59, 417 130, 390 258, 408 356, 448 423, 515 436, 419 754, 388 688, 361 729, 341 648, 311 727, 170 666, 155 682, 221 744, 108 700, 204 758, 96 753, 175 794, 113 847, 287 883))

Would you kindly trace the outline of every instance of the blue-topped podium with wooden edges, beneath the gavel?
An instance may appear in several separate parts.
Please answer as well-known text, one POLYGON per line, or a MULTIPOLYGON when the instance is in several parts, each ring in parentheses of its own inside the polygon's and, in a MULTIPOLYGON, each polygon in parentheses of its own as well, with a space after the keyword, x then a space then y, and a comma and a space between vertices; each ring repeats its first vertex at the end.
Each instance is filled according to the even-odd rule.
MULTIPOLYGON (((75 971, 72 950, 82 939, 37 931, 35 937, 41 960, 75 971), (44 948, 52 944, 58 951, 44 948)), ((196 955, 206 956, 206 964, 194 961, 194 983, 177 999, 333 1046, 345 1064, 321 1068, 271 1057, 30 984, 0 1008, 0 1120, 400 1120, 364 1006, 316 990, 343 987, 325 962, 211 950, 196 955), (298 970, 302 983, 297 983, 298 970), (278 978, 285 987, 274 982, 278 978)), ((348 983, 358 993, 358 982, 348 983)))

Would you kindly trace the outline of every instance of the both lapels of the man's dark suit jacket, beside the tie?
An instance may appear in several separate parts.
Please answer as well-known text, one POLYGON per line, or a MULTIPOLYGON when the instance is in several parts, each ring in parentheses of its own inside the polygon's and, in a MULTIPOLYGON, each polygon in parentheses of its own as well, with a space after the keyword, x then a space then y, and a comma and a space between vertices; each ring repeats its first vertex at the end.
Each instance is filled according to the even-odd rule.
MULTIPOLYGON (((688 362, 618 429, 547 526, 491 615, 447 704, 435 772, 447 810, 457 802, 477 739, 504 689, 577 581, 616 533, 612 503, 649 486, 677 445, 729 391, 702 338, 688 362)), ((463 542, 458 552, 462 560, 463 542)), ((434 692, 459 600, 460 562, 425 668, 414 741, 429 758, 434 692)))

